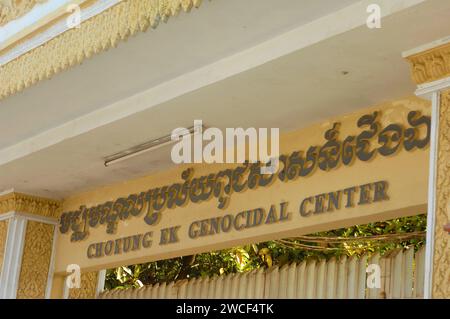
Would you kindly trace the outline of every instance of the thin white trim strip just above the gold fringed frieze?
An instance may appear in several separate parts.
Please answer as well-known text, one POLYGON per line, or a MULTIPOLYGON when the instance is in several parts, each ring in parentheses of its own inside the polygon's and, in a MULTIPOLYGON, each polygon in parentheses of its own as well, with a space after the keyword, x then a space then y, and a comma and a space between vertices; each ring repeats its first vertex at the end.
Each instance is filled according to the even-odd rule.
MULTIPOLYGON (((93 16, 96 16, 103 11, 109 9, 110 7, 116 5, 121 0, 102 0, 97 1, 89 7, 81 10, 80 21, 84 22, 93 16)), ((70 4, 70 3, 68 3, 70 4)), ((57 37, 58 35, 70 30, 67 26, 66 19, 59 21, 54 24, 44 32, 39 32, 36 36, 30 40, 24 41, 23 43, 14 46, 14 48, 8 51, 6 54, 0 56, 0 66, 11 62, 12 60, 18 58, 19 56, 43 45, 44 43, 50 41, 51 39, 57 37)))

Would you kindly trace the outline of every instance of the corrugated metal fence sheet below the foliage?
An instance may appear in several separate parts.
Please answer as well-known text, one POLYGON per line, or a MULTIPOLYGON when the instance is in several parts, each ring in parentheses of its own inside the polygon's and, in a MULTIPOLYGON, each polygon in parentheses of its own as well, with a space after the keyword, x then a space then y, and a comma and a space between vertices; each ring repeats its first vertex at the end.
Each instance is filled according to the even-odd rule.
POLYGON ((252 272, 196 278, 101 293, 100 299, 423 298, 425 248, 380 257, 334 258, 252 272), (381 268, 381 287, 367 288, 369 264, 381 268))

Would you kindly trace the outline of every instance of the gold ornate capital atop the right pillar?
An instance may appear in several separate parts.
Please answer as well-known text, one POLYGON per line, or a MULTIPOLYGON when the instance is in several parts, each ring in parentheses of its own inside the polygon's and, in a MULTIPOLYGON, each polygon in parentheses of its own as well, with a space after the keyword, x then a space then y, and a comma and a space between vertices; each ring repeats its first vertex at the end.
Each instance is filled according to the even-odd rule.
POLYGON ((450 43, 407 57, 414 82, 423 84, 450 76, 450 43))

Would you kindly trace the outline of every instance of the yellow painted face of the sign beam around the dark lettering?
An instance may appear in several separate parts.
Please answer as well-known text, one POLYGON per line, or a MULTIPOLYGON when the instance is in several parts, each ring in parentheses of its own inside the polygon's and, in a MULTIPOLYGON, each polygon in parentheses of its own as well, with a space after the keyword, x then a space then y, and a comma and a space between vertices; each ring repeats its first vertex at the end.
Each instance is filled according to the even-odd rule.
MULTIPOLYGON (((343 140, 348 135, 358 135, 367 128, 358 128, 356 126, 357 120, 362 115, 373 111, 382 111, 380 117, 382 127, 391 123, 402 123, 405 127, 409 127, 406 122, 407 115, 410 111, 416 110, 429 115, 429 103, 412 97, 312 125, 282 135, 281 153, 290 154, 296 150, 306 151, 311 145, 323 145, 325 143, 325 131, 330 129, 336 121, 342 123, 339 140, 343 140)), ((378 154, 370 162, 356 160, 351 166, 341 165, 328 172, 316 170, 311 176, 300 177, 295 181, 281 182, 277 179, 270 187, 233 193, 230 204, 225 210, 217 208, 217 199, 214 197, 204 203, 189 203, 183 208, 166 209, 156 226, 147 225, 143 220, 143 215, 141 215, 119 222, 117 232, 113 235, 106 233, 105 225, 90 228, 89 237, 79 242, 70 241, 71 232, 58 234, 56 272, 64 273, 66 265, 73 263, 79 264, 84 271, 93 271, 123 264, 148 262, 216 250, 242 243, 308 234, 398 216, 424 213, 427 203, 428 153, 428 147, 425 150, 411 152, 401 149, 398 153, 389 157, 378 154), (342 208, 339 211, 325 212, 309 217, 302 217, 299 214, 299 205, 305 197, 383 180, 389 183, 389 201, 342 208), (261 225, 242 231, 232 230, 229 233, 216 234, 200 239, 188 237, 188 227, 195 220, 225 214, 236 215, 243 210, 258 207, 268 210, 272 204, 279 204, 284 201, 289 202, 288 210, 291 216, 288 221, 261 225), (178 232, 180 241, 169 245, 159 245, 160 230, 176 225, 181 225, 178 232), (149 231, 153 231, 154 234, 153 244, 148 249, 142 248, 134 252, 113 254, 102 258, 87 258, 87 249, 92 243, 144 234, 149 231)), ((198 177, 223 170, 225 165, 182 165, 170 171, 85 192, 67 198, 63 204, 63 211, 77 210, 80 205, 91 207, 115 200, 121 196, 126 197, 129 194, 140 193, 154 187, 181 182, 181 172, 188 167, 193 167, 195 177, 198 177)))

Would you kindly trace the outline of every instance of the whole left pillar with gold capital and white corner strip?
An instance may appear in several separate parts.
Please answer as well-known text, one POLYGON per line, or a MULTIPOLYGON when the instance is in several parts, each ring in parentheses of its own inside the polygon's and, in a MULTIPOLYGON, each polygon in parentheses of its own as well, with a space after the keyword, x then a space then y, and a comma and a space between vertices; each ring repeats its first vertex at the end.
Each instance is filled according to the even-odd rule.
POLYGON ((59 202, 0 194, 0 298, 50 297, 59 202))

